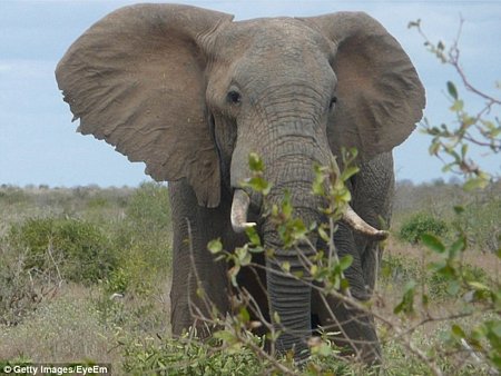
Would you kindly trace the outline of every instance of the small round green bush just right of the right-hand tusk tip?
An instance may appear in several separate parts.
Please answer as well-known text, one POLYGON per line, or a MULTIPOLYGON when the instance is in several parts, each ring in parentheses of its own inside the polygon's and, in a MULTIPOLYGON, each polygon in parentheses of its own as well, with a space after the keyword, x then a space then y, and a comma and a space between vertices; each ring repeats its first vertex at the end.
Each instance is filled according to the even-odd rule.
POLYGON ((400 228, 399 238, 410 244, 418 244, 421 236, 430 234, 443 236, 448 232, 448 225, 442 219, 425 212, 419 212, 404 220, 400 228))

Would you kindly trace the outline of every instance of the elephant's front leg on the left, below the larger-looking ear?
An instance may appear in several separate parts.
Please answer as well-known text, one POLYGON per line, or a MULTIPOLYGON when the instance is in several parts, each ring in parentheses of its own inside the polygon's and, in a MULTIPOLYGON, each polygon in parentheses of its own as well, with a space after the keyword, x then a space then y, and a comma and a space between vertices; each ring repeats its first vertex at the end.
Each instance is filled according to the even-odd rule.
POLYGON ((198 206, 191 187, 185 180, 170 182, 169 196, 174 231, 173 334, 180 335, 195 325, 202 330, 199 334, 205 335, 203 328, 206 326, 199 318, 209 317, 213 306, 220 313, 226 313, 229 307, 226 265, 216 263, 207 250, 207 243, 222 237, 228 220, 222 212, 224 206, 218 209, 198 206))

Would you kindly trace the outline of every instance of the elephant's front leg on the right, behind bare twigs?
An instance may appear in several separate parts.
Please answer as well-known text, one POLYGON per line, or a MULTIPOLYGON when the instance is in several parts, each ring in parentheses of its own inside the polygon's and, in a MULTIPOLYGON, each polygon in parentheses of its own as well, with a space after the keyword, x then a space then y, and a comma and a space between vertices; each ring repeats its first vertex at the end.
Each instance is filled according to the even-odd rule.
MULTIPOLYGON (((334 240, 340 258, 347 254, 353 256, 353 264, 345 271, 353 298, 357 303, 366 301, 370 291, 365 286, 361 257, 355 249, 351 229, 340 224, 334 240)), ((379 362, 381 348, 370 313, 350 306, 332 295, 323 300, 318 293, 314 294, 313 313, 318 316, 321 326, 327 332, 340 333, 335 342, 338 346, 350 348, 347 353, 355 353, 364 363, 379 362)))

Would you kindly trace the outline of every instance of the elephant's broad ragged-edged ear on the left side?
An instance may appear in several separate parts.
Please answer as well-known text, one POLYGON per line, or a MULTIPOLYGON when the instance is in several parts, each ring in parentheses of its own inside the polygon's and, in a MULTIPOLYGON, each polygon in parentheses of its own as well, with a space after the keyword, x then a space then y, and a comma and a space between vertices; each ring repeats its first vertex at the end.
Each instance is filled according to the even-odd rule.
POLYGON ((219 162, 207 125, 200 40, 232 16, 174 4, 121 8, 87 30, 56 70, 65 101, 94 135, 146 162, 156 180, 186 178, 198 202, 219 204, 219 162))

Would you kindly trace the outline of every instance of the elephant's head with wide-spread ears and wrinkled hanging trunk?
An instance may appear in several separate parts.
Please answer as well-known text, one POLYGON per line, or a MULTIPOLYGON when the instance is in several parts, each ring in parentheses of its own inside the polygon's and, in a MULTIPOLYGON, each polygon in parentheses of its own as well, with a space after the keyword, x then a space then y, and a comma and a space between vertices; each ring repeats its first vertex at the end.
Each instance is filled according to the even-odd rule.
MULTIPOLYGON (((122 8, 60 61, 65 100, 80 132, 146 162, 156 180, 187 179, 202 206, 217 207, 233 190, 248 200, 239 188, 248 155, 257 152, 274 187, 269 199, 287 189, 296 215, 318 220, 312 166, 326 165, 341 147, 356 147, 367 160, 401 144, 424 107, 418 75, 396 40, 364 13, 232 19, 187 6, 122 8)), ((245 214, 233 216, 245 221, 245 214)), ((279 261, 301 268, 272 225, 262 230, 279 261)), ((268 293, 288 329, 281 348, 301 348, 310 287, 272 273, 268 293)))

